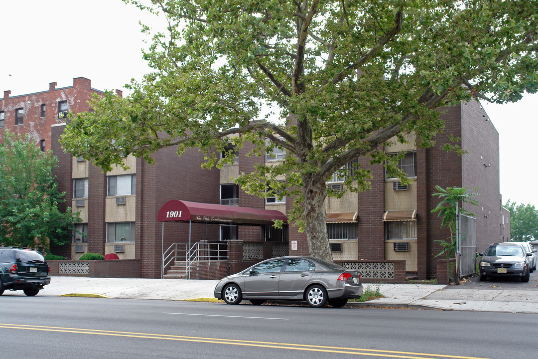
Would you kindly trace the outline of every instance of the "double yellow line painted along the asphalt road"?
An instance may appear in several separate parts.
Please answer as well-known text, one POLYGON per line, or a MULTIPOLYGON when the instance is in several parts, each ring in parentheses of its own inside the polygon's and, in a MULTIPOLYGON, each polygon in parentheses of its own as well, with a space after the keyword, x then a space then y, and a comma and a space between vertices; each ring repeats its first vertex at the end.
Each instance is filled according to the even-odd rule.
POLYGON ((40 330, 40 331, 46 331, 46 332, 61 332, 61 333, 136 337, 136 338, 145 338, 145 339, 189 341, 189 342, 212 343, 212 344, 229 344, 229 345, 236 345, 236 346, 318 351, 322 353, 334 353, 334 354, 370 355, 370 356, 401 358, 401 359, 432 359, 432 358, 487 359, 487 358, 479 358, 479 357, 471 357, 471 356, 413 353, 413 352, 407 352, 407 351, 394 351, 394 350, 314 346, 314 345, 308 345, 308 344, 249 341, 249 340, 238 340, 238 339, 223 339, 223 338, 154 334, 154 333, 119 332, 115 330, 100 330, 100 329, 33 326, 33 325, 8 324, 8 323, 0 323, 0 328, 40 330))

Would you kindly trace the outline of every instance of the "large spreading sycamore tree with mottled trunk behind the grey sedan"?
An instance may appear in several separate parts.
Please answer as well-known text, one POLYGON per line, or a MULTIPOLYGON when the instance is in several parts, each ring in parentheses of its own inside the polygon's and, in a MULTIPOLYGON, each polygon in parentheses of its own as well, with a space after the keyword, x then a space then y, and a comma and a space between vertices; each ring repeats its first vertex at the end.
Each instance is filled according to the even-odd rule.
POLYGON ((291 217, 322 258, 331 258, 325 199, 342 194, 325 186, 332 174, 362 191, 369 171, 352 160, 398 174, 387 141, 413 132, 431 146, 440 107, 516 101, 538 83, 535 0, 125 1, 167 21, 144 53, 153 72, 74 118, 63 146, 104 170, 169 146, 196 147, 205 166, 220 166, 232 161, 216 155, 228 138, 253 143, 253 155, 280 147, 279 165, 237 182, 293 196, 291 217))

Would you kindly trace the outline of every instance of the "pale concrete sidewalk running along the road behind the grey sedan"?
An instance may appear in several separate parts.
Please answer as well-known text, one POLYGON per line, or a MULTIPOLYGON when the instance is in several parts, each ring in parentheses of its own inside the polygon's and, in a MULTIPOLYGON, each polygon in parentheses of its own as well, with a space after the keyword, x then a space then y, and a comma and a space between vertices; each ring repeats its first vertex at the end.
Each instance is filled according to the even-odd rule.
MULTIPOLYGON (((52 277, 38 295, 187 300, 214 298, 217 280, 52 277)), ((348 305, 361 307, 410 307, 458 311, 538 313, 538 291, 445 290, 444 285, 363 284, 379 286, 385 298, 348 305)), ((24 295, 5 291, 3 295, 24 295)))

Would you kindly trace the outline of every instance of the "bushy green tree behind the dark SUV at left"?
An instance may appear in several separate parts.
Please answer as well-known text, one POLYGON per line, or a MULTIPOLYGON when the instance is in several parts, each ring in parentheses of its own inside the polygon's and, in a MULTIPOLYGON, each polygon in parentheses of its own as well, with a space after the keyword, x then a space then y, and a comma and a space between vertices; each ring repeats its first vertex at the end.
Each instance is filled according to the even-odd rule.
POLYGON ((47 251, 49 244, 66 244, 68 230, 79 214, 61 213, 52 174, 58 159, 42 152, 27 135, 13 136, 6 130, 0 144, 0 244, 47 251))

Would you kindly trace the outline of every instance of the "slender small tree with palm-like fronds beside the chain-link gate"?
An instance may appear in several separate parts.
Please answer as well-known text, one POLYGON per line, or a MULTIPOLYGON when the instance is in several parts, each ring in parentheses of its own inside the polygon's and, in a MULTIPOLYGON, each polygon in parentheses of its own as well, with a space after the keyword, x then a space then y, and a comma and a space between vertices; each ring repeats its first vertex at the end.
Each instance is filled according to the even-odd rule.
MULTIPOLYGON (((437 193, 432 196, 437 196, 441 199, 441 202, 437 204, 437 207, 431 210, 432 213, 437 213, 442 217, 441 228, 447 227, 450 230, 450 237, 447 240, 436 240, 439 242, 443 250, 439 252, 436 257, 447 255, 450 258, 456 252, 456 220, 457 220, 457 207, 458 203, 471 203, 478 206, 478 201, 473 199, 472 196, 480 194, 471 193, 465 187, 447 187, 443 189, 440 186, 435 186, 437 193)), ((476 191, 478 188, 474 188, 472 191, 476 191)), ((475 214, 464 209, 463 206, 458 208, 460 214, 474 216, 475 214)))

